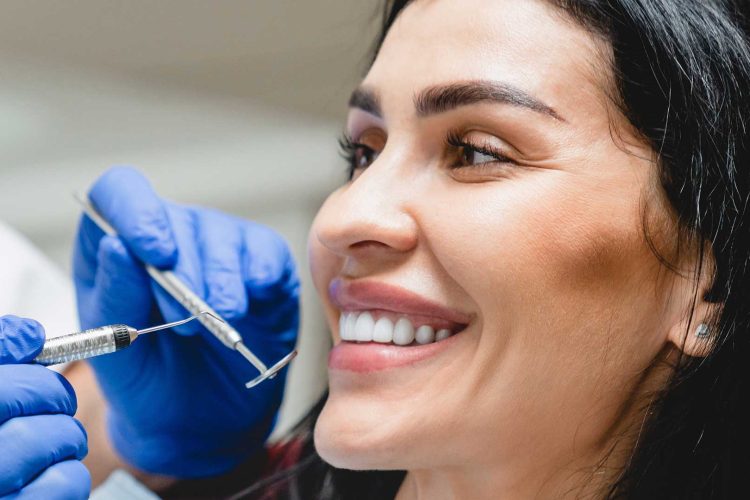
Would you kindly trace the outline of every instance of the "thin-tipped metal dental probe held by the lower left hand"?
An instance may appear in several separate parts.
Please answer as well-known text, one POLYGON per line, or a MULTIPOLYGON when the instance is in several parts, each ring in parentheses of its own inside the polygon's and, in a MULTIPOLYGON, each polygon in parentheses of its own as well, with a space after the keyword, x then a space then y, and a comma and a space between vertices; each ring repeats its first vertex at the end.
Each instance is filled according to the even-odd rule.
MULTIPOLYGON (((188 321, 193 321, 203 315, 211 315, 211 313, 202 312, 187 319, 142 330, 136 330, 128 325, 106 325, 60 337, 52 337, 44 342, 42 352, 34 361, 40 365, 49 366, 121 351, 130 347, 139 335, 184 325, 188 321)), ((215 319, 221 321, 220 318, 215 319)))

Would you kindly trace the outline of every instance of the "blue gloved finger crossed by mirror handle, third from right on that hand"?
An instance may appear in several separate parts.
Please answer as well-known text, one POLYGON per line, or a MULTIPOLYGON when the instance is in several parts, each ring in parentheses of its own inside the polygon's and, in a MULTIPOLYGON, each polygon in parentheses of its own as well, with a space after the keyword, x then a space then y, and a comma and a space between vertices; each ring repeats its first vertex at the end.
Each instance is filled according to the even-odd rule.
MULTIPOLYGON (((172 206, 169 215, 175 240, 180 249, 180 257, 177 259, 173 272, 190 290, 205 300, 206 290, 196 228, 197 221, 191 210, 180 206, 172 206)), ((153 284, 153 290, 165 322, 179 321, 190 315, 179 302, 162 290, 158 284, 153 284)), ((201 328, 200 323, 191 321, 174 328, 173 331, 181 335, 195 335, 201 331, 201 328)))

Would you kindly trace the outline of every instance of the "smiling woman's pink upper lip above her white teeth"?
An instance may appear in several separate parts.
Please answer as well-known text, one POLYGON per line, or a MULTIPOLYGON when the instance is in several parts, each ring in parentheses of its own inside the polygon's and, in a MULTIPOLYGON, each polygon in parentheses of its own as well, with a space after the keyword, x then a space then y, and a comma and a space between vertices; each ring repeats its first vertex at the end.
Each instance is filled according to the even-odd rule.
POLYGON ((381 309, 401 314, 430 316, 467 325, 471 317, 455 309, 442 306, 400 286, 377 281, 331 281, 328 294, 342 310, 381 309))

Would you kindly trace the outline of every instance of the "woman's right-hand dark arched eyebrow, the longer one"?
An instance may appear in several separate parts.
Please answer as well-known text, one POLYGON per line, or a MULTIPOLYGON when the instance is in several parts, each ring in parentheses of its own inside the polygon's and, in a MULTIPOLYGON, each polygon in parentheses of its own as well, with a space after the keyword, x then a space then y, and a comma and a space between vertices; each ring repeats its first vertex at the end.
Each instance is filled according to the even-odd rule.
POLYGON ((526 91, 504 82, 473 80, 428 87, 414 97, 419 116, 444 113, 460 106, 492 101, 526 108, 565 121, 557 111, 526 91))

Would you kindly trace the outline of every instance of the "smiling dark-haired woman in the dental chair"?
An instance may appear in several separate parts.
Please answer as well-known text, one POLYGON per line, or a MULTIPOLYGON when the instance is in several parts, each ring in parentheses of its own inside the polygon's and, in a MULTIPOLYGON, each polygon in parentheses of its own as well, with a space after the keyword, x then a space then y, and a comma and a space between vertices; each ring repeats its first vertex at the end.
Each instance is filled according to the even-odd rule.
POLYGON ((389 2, 310 233, 329 393, 237 498, 740 491, 743 5, 389 2))

